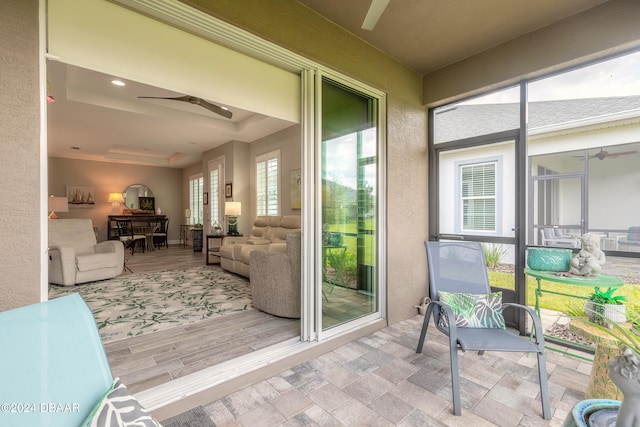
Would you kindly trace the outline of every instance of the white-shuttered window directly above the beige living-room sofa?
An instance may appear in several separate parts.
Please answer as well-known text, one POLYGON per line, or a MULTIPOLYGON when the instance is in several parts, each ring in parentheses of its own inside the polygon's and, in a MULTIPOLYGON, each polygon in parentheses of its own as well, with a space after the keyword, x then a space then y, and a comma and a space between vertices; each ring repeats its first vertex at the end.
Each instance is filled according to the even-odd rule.
POLYGON ((279 215, 279 164, 280 150, 256 156, 256 212, 258 216, 279 215))

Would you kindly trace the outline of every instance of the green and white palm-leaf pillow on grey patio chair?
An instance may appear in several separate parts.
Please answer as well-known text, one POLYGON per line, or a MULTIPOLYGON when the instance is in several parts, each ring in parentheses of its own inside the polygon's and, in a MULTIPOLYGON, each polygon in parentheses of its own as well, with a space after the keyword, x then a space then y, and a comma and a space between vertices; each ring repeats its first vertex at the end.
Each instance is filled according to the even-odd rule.
MULTIPOLYGON (((502 292, 490 294, 438 292, 438 297, 440 301, 451 307, 458 327, 506 328, 502 316, 502 292)), ((440 325, 448 326, 446 316, 440 316, 440 325)))

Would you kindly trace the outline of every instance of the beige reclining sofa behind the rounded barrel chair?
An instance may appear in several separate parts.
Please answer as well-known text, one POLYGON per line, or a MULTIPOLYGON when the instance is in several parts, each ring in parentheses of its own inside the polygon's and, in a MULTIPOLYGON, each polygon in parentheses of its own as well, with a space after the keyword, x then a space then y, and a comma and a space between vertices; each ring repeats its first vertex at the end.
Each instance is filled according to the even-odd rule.
POLYGON ((299 215, 259 216, 248 237, 225 237, 220 247, 220 266, 249 277, 251 252, 286 252, 287 234, 300 231, 299 215))

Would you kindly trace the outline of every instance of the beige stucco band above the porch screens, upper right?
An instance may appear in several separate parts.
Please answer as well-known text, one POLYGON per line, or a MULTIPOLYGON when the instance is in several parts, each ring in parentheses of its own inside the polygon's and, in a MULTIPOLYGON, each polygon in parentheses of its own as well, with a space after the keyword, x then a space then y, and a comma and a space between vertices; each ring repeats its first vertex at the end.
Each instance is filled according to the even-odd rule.
POLYGON ((611 0, 424 76, 425 105, 442 105, 640 46, 640 2, 611 0))

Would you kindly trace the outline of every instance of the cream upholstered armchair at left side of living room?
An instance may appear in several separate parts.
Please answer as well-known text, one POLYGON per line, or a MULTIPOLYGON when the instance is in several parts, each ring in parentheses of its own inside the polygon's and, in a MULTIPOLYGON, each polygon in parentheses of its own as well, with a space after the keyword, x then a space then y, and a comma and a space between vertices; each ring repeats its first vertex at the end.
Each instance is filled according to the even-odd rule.
POLYGON ((96 242, 90 219, 49 220, 49 283, 73 286, 111 279, 124 268, 124 245, 96 242))

